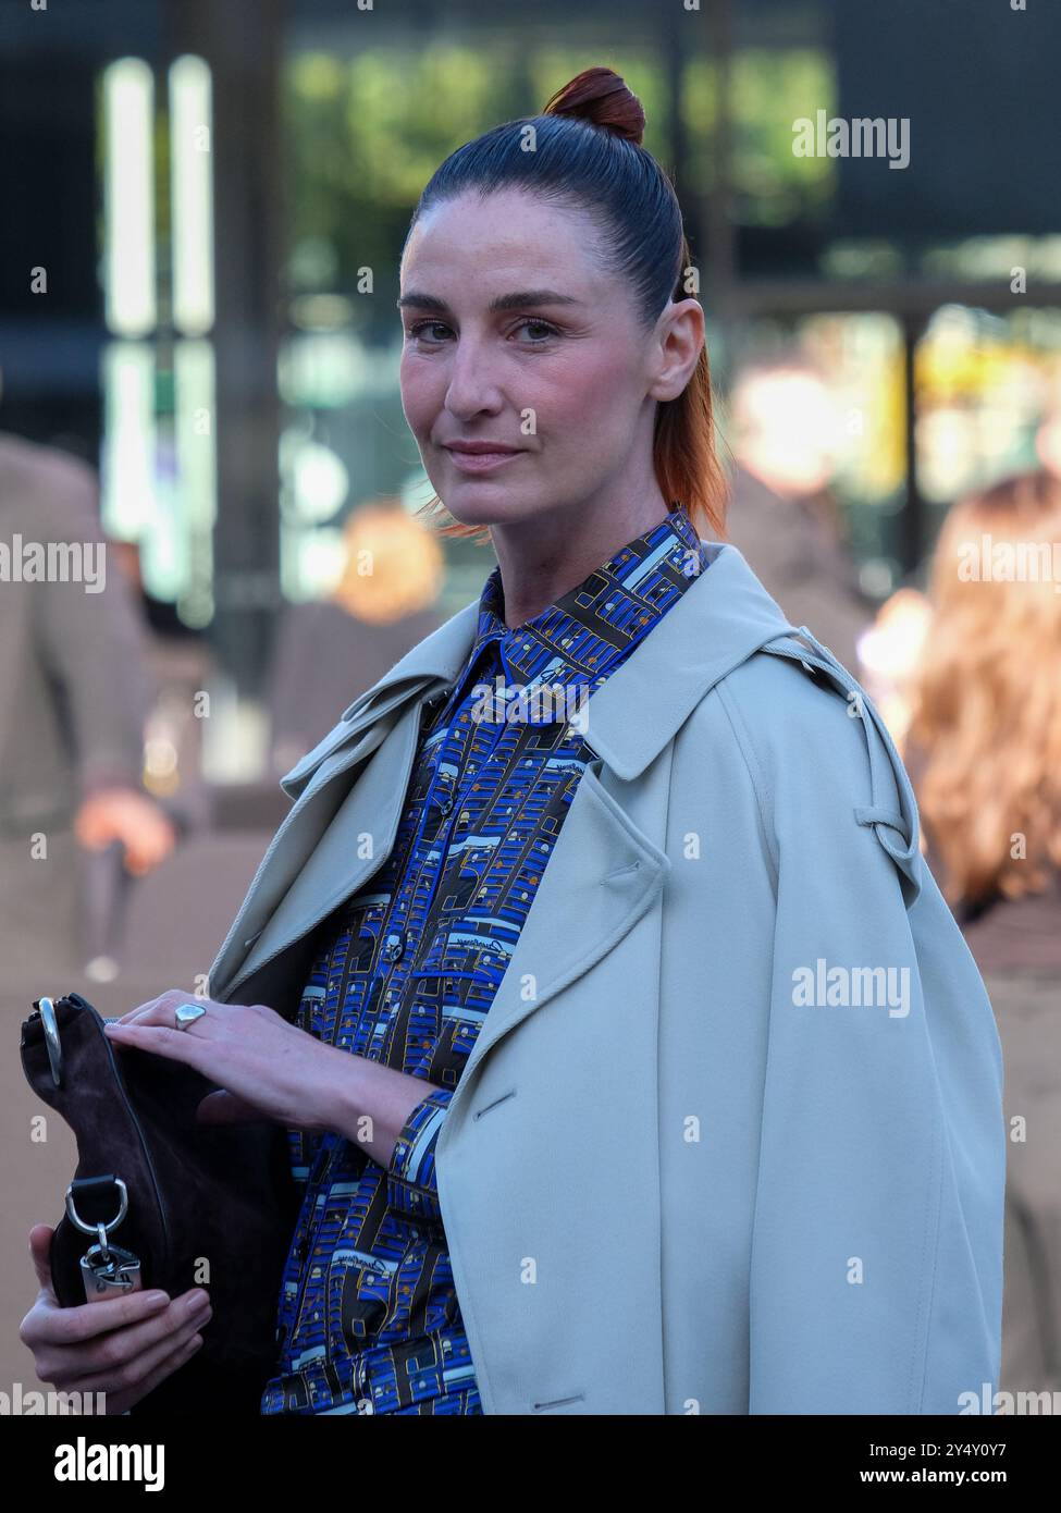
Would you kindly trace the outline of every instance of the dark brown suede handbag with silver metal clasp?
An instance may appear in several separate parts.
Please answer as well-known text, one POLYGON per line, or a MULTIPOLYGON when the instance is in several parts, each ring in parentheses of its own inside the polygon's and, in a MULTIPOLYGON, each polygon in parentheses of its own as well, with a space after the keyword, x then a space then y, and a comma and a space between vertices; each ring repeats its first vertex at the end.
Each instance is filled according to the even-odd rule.
POLYGON ((117 1045, 80 994, 36 999, 21 1056, 33 1091, 70 1124, 77 1170, 51 1236, 62 1307, 204 1286, 213 1315, 195 1356, 130 1410, 259 1413, 278 1354, 283 1265, 298 1198, 286 1135, 262 1120, 198 1124, 215 1083, 117 1045))

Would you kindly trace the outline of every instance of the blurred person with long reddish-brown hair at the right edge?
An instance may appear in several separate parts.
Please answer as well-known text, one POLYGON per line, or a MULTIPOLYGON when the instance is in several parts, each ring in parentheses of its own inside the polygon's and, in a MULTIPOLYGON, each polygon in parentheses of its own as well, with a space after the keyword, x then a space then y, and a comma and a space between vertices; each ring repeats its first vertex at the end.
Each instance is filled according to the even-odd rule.
POLYGON ((905 761, 1005 1065, 1000 1389, 1061 1389, 1061 478, 946 517, 905 761), (1022 557, 1026 564, 1020 570, 1022 557))

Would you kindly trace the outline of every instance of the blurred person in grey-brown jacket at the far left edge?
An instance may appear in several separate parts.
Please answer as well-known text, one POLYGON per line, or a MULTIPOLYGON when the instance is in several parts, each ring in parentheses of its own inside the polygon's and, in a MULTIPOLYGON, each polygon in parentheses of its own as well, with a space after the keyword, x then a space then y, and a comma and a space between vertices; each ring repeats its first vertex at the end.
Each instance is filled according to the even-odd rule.
POLYGON ((6 964, 35 973, 82 970, 80 847, 120 841, 126 870, 142 876, 176 838, 141 787, 150 682, 129 589, 106 573, 95 498, 86 463, 0 433, 0 542, 11 564, 0 581, 0 949, 6 964), (73 572, 15 576, 26 548, 47 560, 50 546, 68 543, 100 564, 98 592, 73 572))

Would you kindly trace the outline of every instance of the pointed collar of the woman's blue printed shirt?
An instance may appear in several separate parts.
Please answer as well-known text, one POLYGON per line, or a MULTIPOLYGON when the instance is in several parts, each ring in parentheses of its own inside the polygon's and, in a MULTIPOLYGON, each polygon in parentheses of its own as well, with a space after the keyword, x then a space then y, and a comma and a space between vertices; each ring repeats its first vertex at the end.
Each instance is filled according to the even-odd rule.
POLYGON ((483 586, 471 667, 496 642, 512 681, 604 682, 708 566, 704 542, 687 511, 675 505, 664 520, 621 546, 577 587, 522 625, 504 622, 501 567, 483 586), (549 654, 546 667, 542 655, 549 654))

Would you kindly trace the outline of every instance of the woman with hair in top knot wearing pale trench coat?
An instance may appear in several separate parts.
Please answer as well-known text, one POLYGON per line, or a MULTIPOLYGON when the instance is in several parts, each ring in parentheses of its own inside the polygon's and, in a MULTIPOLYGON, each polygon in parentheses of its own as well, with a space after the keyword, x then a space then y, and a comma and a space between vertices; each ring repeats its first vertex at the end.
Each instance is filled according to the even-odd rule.
MULTIPOLYGON (((693 525, 704 316, 643 124, 593 68, 428 183, 403 402, 498 566, 283 779, 204 1014, 114 1030, 291 1132, 265 1413, 957 1413, 997 1372, 990 1005, 875 711, 693 525)), ((185 1348, 144 1307, 123 1407, 185 1348)))

